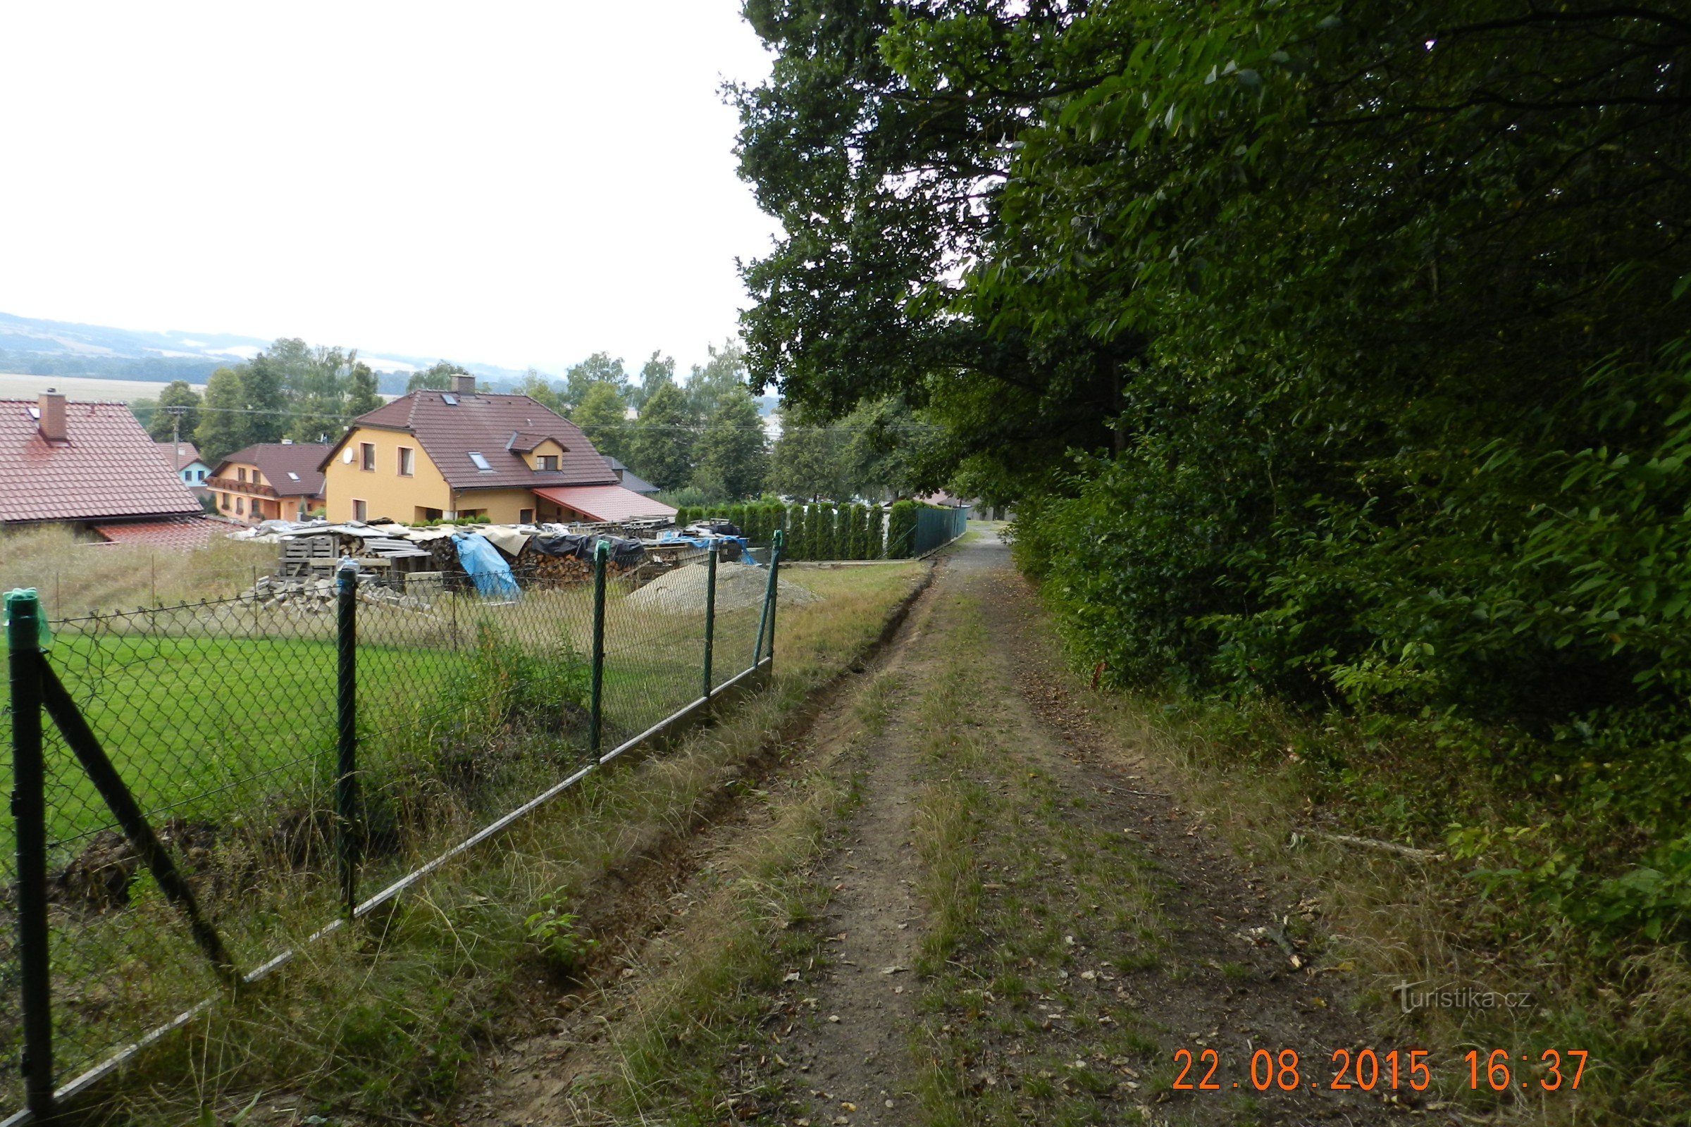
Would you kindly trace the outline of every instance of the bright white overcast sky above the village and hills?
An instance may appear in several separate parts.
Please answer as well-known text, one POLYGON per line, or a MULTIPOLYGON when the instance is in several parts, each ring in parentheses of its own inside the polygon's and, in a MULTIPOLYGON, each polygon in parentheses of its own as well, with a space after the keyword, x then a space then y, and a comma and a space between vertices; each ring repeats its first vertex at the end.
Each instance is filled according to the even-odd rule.
POLYGON ((0 311, 561 370, 736 331, 739 0, 7 3, 0 311))

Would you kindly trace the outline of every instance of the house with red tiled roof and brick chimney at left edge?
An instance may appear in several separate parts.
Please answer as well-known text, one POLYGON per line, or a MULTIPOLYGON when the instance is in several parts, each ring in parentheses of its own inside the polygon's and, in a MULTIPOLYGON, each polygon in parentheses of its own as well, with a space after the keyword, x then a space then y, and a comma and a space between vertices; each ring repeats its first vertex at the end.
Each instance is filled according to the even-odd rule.
POLYGON ((0 525, 68 524, 103 541, 201 546, 218 531, 129 404, 0 399, 0 525))

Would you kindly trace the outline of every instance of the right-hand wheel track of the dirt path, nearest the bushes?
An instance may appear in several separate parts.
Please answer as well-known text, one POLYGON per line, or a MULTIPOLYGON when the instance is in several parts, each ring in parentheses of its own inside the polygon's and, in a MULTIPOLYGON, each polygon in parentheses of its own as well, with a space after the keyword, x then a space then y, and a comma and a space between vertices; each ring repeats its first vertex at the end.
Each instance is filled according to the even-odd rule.
MULTIPOLYGON (((1057 781, 1072 804, 1069 818, 1126 836, 1157 890, 1165 943, 1155 961, 1123 973, 1114 990, 1160 1043, 1150 1059, 1119 1066, 1123 1076, 1155 1076, 1138 1085, 1143 1098, 1126 1103, 1146 1122, 1397 1122, 1414 1100, 1409 1092, 1327 1088, 1333 1051, 1368 1044, 1365 1024, 1346 1010, 1343 990, 1317 977, 1311 956, 1285 936, 1273 890, 1218 843, 1202 811, 1182 806, 1136 749, 1111 747, 1087 718, 1030 585, 1008 568, 976 568, 967 590, 994 625, 982 664, 1013 693, 1006 708, 1026 765, 1057 781), (1204 1049, 1219 1054, 1221 1092, 1168 1090, 1177 1071, 1168 1063, 1180 1048, 1194 1058, 1204 1049), (1246 1070, 1258 1049, 1275 1061, 1282 1049, 1299 1054, 1294 1092, 1277 1085, 1250 1092, 1246 1070)), ((1204 1068, 1199 1063, 1185 1081, 1201 1080, 1204 1068)))

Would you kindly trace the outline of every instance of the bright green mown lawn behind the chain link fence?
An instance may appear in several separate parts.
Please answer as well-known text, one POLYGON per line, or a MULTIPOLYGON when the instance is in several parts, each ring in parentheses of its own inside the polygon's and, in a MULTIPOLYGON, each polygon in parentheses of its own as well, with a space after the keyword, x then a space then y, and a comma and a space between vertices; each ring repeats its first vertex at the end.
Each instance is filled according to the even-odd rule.
MULTIPOLYGON (((605 747, 634 735, 702 691, 703 618, 629 613, 612 590, 605 635, 605 747)), ((715 684, 751 664, 758 610, 717 617, 715 684)), ((337 652, 328 615, 291 618, 249 607, 157 623, 140 615, 59 629, 47 659, 129 782, 142 809, 222 819, 281 813, 326 798, 335 762, 337 652)), ((364 767, 428 749, 411 737, 441 713, 468 710, 502 688, 504 671, 477 656, 492 632, 523 652, 590 651, 585 591, 548 591, 514 605, 462 600, 448 612, 360 617, 358 728, 364 767)), ((8 705, 0 681, 0 705, 8 705)), ((51 723, 47 725, 52 733, 51 723)), ((0 743, 10 742, 10 727, 0 743)), ((10 787, 10 754, 0 755, 10 787)), ((49 838, 56 862, 112 818, 57 738, 47 747, 49 838)), ((0 828, 0 858, 10 855, 0 828)), ((3 865, 3 862, 0 862, 3 865)))

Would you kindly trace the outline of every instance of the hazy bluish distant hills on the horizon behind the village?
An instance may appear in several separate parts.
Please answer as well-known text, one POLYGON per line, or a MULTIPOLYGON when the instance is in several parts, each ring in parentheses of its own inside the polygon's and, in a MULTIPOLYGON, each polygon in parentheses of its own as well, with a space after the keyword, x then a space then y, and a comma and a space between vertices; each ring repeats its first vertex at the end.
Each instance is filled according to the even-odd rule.
MULTIPOLYGON (((0 372, 81 375, 96 380, 188 380, 205 384, 216 368, 254 357, 271 341, 230 333, 147 333, 74 321, 41 321, 0 313, 0 372)), ((406 390, 411 372, 435 357, 370 353, 358 357, 380 373, 380 390, 406 390)), ((460 362, 463 363, 463 362, 460 362)), ((463 363, 492 384, 523 378, 517 368, 463 363)))

